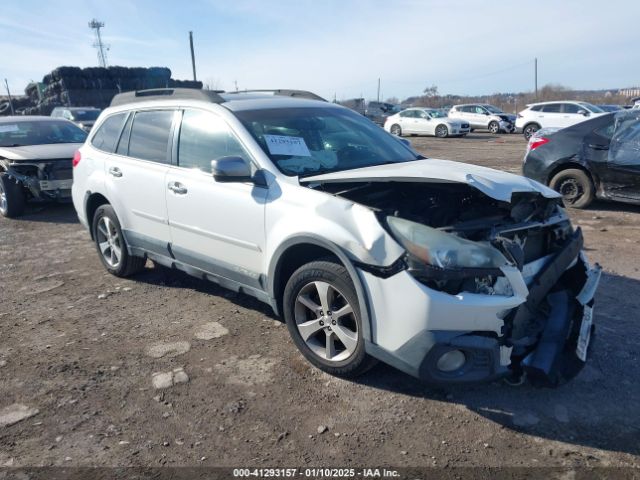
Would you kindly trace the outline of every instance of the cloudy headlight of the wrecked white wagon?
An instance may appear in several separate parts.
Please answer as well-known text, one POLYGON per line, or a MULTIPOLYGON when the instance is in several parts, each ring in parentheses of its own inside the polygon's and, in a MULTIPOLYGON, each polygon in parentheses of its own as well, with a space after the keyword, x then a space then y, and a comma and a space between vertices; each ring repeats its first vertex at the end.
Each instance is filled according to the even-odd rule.
POLYGON ((507 259, 488 243, 472 242, 398 217, 387 217, 396 240, 424 263, 442 269, 498 269, 507 259))

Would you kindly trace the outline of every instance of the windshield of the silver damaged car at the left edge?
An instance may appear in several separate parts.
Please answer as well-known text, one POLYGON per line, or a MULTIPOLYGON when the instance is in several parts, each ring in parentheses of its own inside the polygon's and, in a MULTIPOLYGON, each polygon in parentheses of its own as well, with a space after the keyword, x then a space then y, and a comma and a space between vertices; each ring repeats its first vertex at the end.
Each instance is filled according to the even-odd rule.
POLYGON ((0 147, 84 143, 86 138, 87 132, 67 121, 0 122, 0 147))

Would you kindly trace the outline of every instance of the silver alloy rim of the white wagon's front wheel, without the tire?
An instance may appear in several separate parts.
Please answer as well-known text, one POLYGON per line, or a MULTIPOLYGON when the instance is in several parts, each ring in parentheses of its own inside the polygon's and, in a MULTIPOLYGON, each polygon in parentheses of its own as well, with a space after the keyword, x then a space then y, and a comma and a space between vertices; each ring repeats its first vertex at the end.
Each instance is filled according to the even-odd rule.
POLYGON ((298 293, 294 308, 298 333, 318 357, 339 362, 358 346, 358 323, 353 307, 333 285, 308 283, 298 293))

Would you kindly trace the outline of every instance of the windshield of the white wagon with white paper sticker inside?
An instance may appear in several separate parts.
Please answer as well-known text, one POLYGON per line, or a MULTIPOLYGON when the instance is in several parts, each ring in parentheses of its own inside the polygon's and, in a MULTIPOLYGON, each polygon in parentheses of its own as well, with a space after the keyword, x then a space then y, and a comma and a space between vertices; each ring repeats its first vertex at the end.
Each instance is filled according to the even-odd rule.
POLYGON ((343 108, 236 112, 285 175, 308 176, 423 158, 362 115, 343 108))

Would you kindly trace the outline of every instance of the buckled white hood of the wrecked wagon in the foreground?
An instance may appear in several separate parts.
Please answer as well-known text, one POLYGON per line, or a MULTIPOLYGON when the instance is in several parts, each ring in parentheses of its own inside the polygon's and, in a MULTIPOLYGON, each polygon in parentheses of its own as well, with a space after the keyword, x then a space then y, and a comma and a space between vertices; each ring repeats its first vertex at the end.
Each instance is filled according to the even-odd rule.
POLYGON ((393 165, 377 165, 342 172, 325 173, 300 179, 300 183, 339 182, 452 182, 466 183, 496 200, 510 202, 516 192, 535 192, 547 198, 560 194, 541 183, 512 173, 492 168, 452 162, 450 160, 425 159, 393 165))

